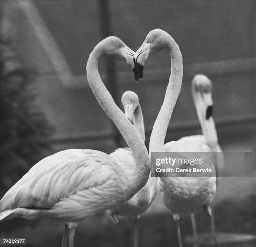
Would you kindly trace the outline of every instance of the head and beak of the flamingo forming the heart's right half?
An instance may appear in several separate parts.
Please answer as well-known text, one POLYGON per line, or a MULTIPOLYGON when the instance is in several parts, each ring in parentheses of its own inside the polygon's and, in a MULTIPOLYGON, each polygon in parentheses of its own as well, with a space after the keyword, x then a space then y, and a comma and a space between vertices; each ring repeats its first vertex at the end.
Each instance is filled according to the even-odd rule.
POLYGON ((154 29, 148 33, 145 41, 136 51, 133 62, 137 70, 138 79, 143 78, 143 68, 150 53, 156 53, 168 47, 170 35, 161 29, 154 29))

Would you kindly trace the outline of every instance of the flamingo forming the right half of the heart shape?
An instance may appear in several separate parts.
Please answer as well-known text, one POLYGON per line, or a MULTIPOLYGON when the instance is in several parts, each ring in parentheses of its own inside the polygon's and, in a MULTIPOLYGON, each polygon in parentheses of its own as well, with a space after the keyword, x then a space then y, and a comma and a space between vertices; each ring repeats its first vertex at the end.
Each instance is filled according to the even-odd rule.
MULTIPOLYGON (((205 209, 211 214, 210 203, 216 190, 214 158, 210 148, 196 138, 182 138, 164 145, 167 127, 172 116, 182 84, 183 64, 179 46, 172 36, 161 29, 148 33, 141 47, 136 51, 133 61, 136 64, 138 76, 143 78, 143 67, 151 52, 167 48, 170 52, 172 67, 164 102, 154 123, 149 142, 149 154, 152 152, 203 152, 207 154, 207 166, 212 168, 210 177, 158 177, 157 189, 165 206, 173 214, 177 227, 179 247, 182 247, 182 237, 179 226, 180 217, 190 215, 205 209)), ((200 165, 199 165, 200 166, 200 165)))

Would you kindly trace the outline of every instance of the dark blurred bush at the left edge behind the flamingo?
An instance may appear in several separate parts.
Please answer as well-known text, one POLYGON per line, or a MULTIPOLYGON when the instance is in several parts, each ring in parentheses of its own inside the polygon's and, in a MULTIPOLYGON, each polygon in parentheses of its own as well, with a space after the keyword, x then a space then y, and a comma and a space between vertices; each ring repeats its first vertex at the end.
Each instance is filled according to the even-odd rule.
POLYGON ((50 148, 52 129, 31 92, 34 74, 0 40, 0 197, 50 148))

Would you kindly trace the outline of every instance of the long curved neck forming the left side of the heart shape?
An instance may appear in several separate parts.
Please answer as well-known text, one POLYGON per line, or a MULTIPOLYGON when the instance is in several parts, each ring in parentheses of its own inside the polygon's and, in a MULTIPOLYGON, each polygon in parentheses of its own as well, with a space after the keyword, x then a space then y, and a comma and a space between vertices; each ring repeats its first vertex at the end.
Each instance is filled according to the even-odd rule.
POLYGON ((135 166, 130 176, 127 178, 130 179, 130 187, 127 189, 130 190, 130 193, 132 194, 133 192, 136 193, 137 188, 144 186, 148 179, 150 171, 149 155, 146 146, 138 135, 137 130, 115 104, 113 98, 100 79, 98 64, 100 58, 103 56, 101 51, 102 48, 97 45, 90 54, 86 66, 87 79, 100 106, 115 123, 133 154, 135 166))

